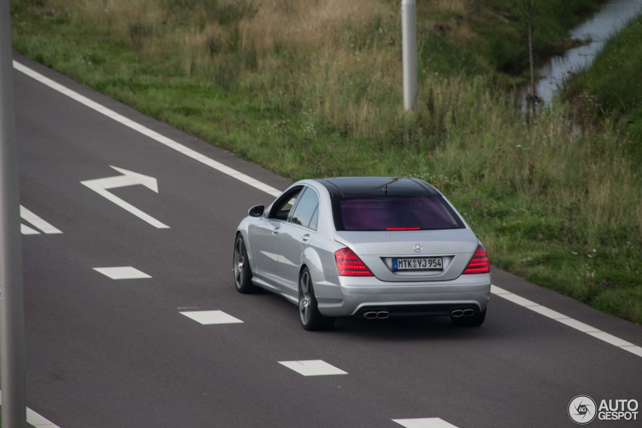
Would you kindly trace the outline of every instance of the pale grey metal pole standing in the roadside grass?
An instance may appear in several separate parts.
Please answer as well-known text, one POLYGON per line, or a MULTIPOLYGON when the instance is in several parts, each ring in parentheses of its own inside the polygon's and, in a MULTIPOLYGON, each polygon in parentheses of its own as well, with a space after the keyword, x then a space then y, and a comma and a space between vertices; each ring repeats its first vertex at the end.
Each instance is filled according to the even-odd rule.
POLYGON ((403 108, 417 109, 417 4, 401 0, 401 37, 403 45, 403 108))

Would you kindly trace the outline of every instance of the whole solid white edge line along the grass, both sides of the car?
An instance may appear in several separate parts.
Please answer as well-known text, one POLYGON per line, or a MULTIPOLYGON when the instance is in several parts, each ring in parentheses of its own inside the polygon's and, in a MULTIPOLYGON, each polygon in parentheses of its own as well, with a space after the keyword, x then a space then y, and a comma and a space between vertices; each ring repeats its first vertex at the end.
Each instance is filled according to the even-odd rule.
MULTIPOLYGON (((48 77, 45 77, 38 73, 37 71, 34 71, 30 69, 29 67, 23 66, 17 61, 13 61, 13 67, 17 69, 18 71, 21 71, 27 76, 30 76, 31 78, 34 78, 35 80, 39 81, 40 83, 47 85, 48 87, 51 87, 51 89, 55 89, 56 91, 65 94, 69 96, 70 98, 73 98, 73 100, 76 100, 83 105, 86 105, 90 109, 93 109, 97 112, 100 112, 101 114, 105 114, 105 116, 112 118, 113 120, 116 120, 119 123, 122 123, 126 127, 130 127, 131 129, 136 130, 137 132, 140 132, 141 134, 148 136, 149 138, 154 139, 155 141, 158 141, 159 143, 166 145, 167 147, 173 148, 174 150, 177 150, 177 152, 180 152, 186 156, 189 156, 193 159, 196 159, 197 161, 203 163, 204 165, 210 166, 211 168, 214 168, 215 170, 218 170, 219 172, 222 172, 223 174, 230 175, 230 177, 234 177, 238 179, 239 181, 249 184, 250 186, 257 188, 259 190, 263 190, 263 192, 266 192, 273 197, 278 197, 281 195, 281 192, 272 186, 268 186, 265 183, 261 183, 260 181, 253 179, 249 175, 242 174, 241 172, 238 172, 237 170, 234 170, 232 168, 229 168, 229 166, 225 166, 220 162, 214 161, 214 159, 210 159, 207 156, 204 156, 195 150, 192 150, 191 148, 187 148, 184 145, 177 143, 173 139, 169 139, 165 136, 160 135, 158 132, 155 132, 147 127, 144 127, 143 125, 140 125, 139 123, 136 123, 133 120, 130 120, 126 118, 125 116, 118 114, 115 111, 112 111, 108 109, 107 107, 103 107, 99 103, 96 103, 86 96, 82 96, 81 94, 72 91, 71 89, 65 87, 64 85, 58 84, 51 80, 48 77)), ((589 328, 590 331, 584 331, 585 333, 600 333, 601 330, 597 328, 593 328, 591 326, 587 326, 584 323, 580 323, 580 321, 577 321, 575 319, 572 319, 570 317, 564 316, 560 314, 559 312, 555 312, 554 310, 551 310, 549 308, 543 307, 541 305, 538 305, 534 301, 530 301, 528 299, 522 298, 521 296, 517 296, 517 294, 513 294, 511 292, 508 292, 507 290, 500 289, 499 287, 495 287, 494 285, 491 286, 490 292, 493 294, 496 294, 497 296, 500 296, 501 298, 505 298, 507 300, 512 301, 513 303, 517 303, 517 305, 521 305, 525 308, 529 308, 530 310, 533 310, 537 312, 538 314, 541 314, 546 317, 550 317, 551 319, 555 319, 557 321, 560 321, 561 323, 564 323, 566 325, 569 325, 573 328, 578 328, 578 330, 583 331, 586 328, 589 328), (580 326, 581 325, 581 326, 580 326)), ((601 332, 603 333, 603 332, 601 332)), ((609 335, 609 337, 614 337, 614 339, 618 339, 618 341, 615 341, 614 339, 609 339, 609 341, 605 340, 604 335, 593 335, 597 339, 603 340, 607 343, 625 343, 625 344, 620 344, 620 345, 614 345, 618 346, 618 348, 621 348, 623 350, 627 350, 630 353, 633 353, 634 355, 638 355, 639 357, 642 357, 642 348, 640 346, 636 346, 632 343, 629 343, 627 341, 621 341, 621 339, 618 339, 617 337, 609 335)))

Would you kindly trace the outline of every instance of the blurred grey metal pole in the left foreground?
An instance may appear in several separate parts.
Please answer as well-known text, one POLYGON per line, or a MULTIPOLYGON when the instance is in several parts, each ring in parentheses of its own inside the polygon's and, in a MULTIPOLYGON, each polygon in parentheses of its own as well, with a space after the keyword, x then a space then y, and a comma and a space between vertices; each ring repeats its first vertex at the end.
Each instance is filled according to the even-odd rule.
POLYGON ((24 290, 9 0, 0 0, 0 389, 2 426, 26 427, 24 290))

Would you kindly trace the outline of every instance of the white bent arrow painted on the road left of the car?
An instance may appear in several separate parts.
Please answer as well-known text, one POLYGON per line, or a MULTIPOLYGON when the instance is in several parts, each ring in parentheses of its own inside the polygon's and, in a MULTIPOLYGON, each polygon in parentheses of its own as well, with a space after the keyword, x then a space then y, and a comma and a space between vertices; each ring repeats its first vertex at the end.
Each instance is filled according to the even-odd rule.
POLYGON ((143 186, 145 186, 146 188, 158 193, 159 186, 156 179, 154 177, 150 177, 149 175, 138 174, 137 172, 124 170, 123 168, 116 168, 116 166, 111 167, 124 175, 116 175, 115 177, 107 177, 102 179, 85 180, 81 181, 80 184, 84 184, 94 192, 107 198, 109 201, 114 202, 114 204, 116 204, 117 206, 124 208, 141 220, 148 222, 152 226, 158 227, 159 229, 169 229, 169 226, 163 224, 162 222, 159 222, 159 220, 156 220, 151 215, 144 213, 129 202, 123 201, 116 195, 107 192, 107 189, 134 186, 135 184, 143 184, 143 186))

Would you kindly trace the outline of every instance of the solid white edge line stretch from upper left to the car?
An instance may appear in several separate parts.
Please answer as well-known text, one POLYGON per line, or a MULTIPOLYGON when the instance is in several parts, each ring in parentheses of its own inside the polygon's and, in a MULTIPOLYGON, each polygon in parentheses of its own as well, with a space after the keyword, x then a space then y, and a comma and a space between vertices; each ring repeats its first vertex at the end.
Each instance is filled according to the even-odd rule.
POLYGON ((47 85, 51 89, 54 89, 55 91, 58 91, 66 96, 69 96, 69 98, 72 98, 73 100, 76 100, 77 102, 82 103, 83 105, 86 105, 87 107, 89 107, 94 111, 104 114, 108 118, 111 118, 117 121, 118 123, 125 125, 126 127, 129 127, 137 132, 140 132, 144 136, 148 136, 149 138, 152 138, 153 140, 158 141, 162 145, 165 145, 169 148, 173 148, 174 150, 184 154, 185 156, 189 156, 192 159, 195 159, 196 161, 199 161, 204 165, 207 165, 211 168, 214 168, 215 170, 218 170, 219 172, 222 172, 223 174, 227 174, 230 177, 234 177, 235 179, 241 181, 242 183, 248 184, 249 186, 262 190, 263 192, 266 192, 272 195, 273 197, 277 197, 281 195, 281 191, 273 188, 272 186, 268 186, 265 183, 261 183, 261 181, 258 181, 250 177, 249 175, 243 174, 242 172, 234 170, 229 166, 225 166, 220 162, 214 161, 214 159, 210 159, 209 157, 204 156, 196 152, 195 150, 192 150, 191 148, 187 148, 186 146, 180 143, 177 143, 173 139, 167 138, 166 136, 163 136, 158 132, 149 129, 148 127, 144 127, 140 123, 130 120, 125 116, 123 116, 122 114, 118 114, 117 112, 111 109, 108 109, 107 107, 104 107, 103 105, 100 105, 97 102, 90 100, 86 96, 83 96, 77 93, 76 91, 72 91, 68 87, 54 82, 50 78, 41 75, 37 71, 32 70, 29 67, 26 67, 15 60, 13 61, 13 67, 18 71, 20 71, 21 73, 24 73, 25 75, 30 76, 31 78, 37 80, 38 82, 44 85, 47 85))

